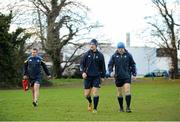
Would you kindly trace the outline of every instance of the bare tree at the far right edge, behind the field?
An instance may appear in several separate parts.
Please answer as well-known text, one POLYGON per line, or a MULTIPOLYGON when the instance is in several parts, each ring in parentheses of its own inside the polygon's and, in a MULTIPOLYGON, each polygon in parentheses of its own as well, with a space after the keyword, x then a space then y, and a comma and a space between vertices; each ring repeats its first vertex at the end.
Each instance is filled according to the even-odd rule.
POLYGON ((152 17, 155 22, 152 20, 148 22, 152 26, 151 34, 156 39, 153 43, 162 48, 164 54, 171 58, 173 75, 178 78, 177 42, 180 25, 175 22, 177 16, 174 16, 175 11, 168 8, 165 0, 152 0, 152 3, 159 11, 159 18, 152 17))

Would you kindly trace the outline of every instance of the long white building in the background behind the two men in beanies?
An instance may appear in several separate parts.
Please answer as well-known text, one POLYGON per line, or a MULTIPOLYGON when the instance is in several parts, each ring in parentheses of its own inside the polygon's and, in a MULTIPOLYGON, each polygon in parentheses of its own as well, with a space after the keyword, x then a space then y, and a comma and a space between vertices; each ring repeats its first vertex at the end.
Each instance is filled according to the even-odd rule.
MULTIPOLYGON (((64 57, 69 57, 70 52, 73 48, 64 49, 64 57)), ((157 57, 156 48, 151 47, 127 47, 129 53, 132 54, 134 61, 136 62, 137 74, 145 75, 153 70, 169 70, 170 67, 170 58, 168 57, 157 57)), ((83 47, 80 51, 77 52, 81 54, 89 50, 88 44, 83 47)), ((113 53, 116 51, 116 47, 111 46, 110 44, 100 44, 98 50, 104 54, 106 69, 109 63, 109 60, 113 53)))

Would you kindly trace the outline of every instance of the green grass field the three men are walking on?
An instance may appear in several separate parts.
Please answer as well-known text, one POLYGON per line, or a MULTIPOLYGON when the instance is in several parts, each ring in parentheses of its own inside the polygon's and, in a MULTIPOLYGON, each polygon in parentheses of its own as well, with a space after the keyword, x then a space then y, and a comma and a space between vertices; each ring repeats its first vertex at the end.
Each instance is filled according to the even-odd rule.
POLYGON ((106 81, 100 90, 98 113, 87 112, 81 80, 54 80, 41 88, 39 106, 31 103, 30 91, 0 90, 0 120, 76 121, 180 121, 180 80, 138 79, 132 83, 132 113, 118 112, 116 89, 106 81))

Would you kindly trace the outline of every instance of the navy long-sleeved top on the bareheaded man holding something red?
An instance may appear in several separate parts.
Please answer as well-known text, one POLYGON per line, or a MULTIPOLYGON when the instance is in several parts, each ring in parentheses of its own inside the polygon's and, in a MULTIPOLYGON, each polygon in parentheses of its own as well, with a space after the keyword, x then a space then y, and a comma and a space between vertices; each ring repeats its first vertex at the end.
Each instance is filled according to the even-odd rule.
POLYGON ((41 78, 41 66, 43 67, 45 73, 50 75, 46 64, 43 62, 42 58, 39 56, 28 57, 24 62, 24 75, 27 75, 29 79, 40 79, 41 78))

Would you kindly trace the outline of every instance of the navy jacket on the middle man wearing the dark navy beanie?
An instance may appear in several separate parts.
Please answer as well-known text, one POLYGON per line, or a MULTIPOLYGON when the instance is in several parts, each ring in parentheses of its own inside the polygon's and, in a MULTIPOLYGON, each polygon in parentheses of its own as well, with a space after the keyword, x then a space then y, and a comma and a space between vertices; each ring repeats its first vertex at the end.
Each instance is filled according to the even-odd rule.
POLYGON ((103 54, 98 50, 96 52, 87 51, 81 59, 80 71, 87 73, 88 77, 105 77, 106 68, 103 54))

